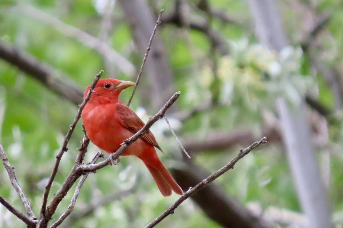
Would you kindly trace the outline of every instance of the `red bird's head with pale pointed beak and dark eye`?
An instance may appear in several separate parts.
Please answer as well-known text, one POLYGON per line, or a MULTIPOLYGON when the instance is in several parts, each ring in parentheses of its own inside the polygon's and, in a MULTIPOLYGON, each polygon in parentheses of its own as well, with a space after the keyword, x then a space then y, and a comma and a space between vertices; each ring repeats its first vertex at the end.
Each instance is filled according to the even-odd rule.
MULTIPOLYGON (((120 81, 113 78, 100 79, 95 85, 94 92, 91 95, 91 100, 93 102, 96 100, 102 100, 103 102, 117 100, 120 92, 131 85, 135 85, 135 83, 130 81, 120 81)), ((90 87, 91 85, 87 86, 83 98, 87 96, 90 87)))

